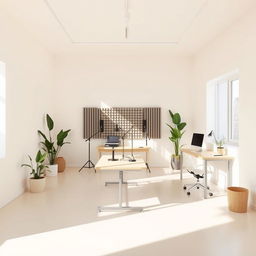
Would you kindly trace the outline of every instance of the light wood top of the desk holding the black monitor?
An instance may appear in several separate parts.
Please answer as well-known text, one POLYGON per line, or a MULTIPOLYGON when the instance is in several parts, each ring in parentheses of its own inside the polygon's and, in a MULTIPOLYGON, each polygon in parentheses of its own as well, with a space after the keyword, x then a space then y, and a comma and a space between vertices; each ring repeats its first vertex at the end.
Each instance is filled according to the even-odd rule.
POLYGON ((221 160, 233 160, 234 159, 233 156, 230 156, 230 155, 220 156, 220 155, 218 155, 218 152, 213 152, 213 151, 203 150, 203 151, 198 152, 198 151, 194 151, 189 148, 181 148, 181 151, 186 154, 189 154, 191 156, 198 157, 198 158, 201 158, 203 160, 208 160, 208 161, 221 161, 221 160))

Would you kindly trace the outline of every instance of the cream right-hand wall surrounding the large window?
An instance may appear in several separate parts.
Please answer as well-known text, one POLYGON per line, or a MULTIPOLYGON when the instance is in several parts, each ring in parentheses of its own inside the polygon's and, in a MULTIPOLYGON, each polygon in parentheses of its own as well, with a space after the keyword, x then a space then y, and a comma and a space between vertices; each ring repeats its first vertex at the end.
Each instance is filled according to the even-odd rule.
MULTIPOLYGON (((206 129, 206 84, 209 80, 239 69, 240 76, 240 185, 256 190, 254 128, 256 126, 256 10, 237 21, 202 49, 195 58, 194 127, 206 129)), ((254 199, 254 195, 252 196, 254 199)), ((255 202, 253 200, 253 205, 255 202)))

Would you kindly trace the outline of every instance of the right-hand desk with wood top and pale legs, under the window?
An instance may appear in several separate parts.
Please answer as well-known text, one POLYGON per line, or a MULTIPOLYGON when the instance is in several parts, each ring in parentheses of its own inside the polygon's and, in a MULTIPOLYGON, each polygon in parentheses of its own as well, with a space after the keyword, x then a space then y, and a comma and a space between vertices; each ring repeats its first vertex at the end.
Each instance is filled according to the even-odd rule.
MULTIPOLYGON (((183 159, 184 159, 184 153, 202 159, 204 161, 204 183, 205 187, 207 188, 207 165, 209 161, 227 161, 228 162, 228 186, 232 186, 232 176, 233 176, 233 161, 234 157, 229 155, 223 155, 223 156, 215 156, 218 155, 217 152, 212 151, 194 151, 192 149, 188 148, 181 148, 181 168, 180 168, 180 179, 182 180, 182 171, 183 171, 183 159)), ((207 198, 207 189, 204 189, 204 198, 207 198)))

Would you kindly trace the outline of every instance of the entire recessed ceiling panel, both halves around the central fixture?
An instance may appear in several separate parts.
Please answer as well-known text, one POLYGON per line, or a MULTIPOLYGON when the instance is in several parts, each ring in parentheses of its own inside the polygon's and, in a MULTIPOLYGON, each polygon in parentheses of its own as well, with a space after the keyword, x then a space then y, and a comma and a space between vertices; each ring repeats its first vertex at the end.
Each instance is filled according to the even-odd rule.
POLYGON ((45 1, 71 41, 86 43, 178 42, 206 0, 45 1))

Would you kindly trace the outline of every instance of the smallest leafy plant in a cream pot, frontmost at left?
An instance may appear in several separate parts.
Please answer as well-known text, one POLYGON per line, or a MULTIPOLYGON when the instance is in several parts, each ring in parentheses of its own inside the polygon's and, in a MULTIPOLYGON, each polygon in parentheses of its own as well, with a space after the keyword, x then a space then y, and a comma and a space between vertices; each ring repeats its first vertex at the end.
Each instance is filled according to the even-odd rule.
POLYGON ((37 152, 35 158, 36 166, 34 166, 30 155, 28 155, 28 158, 30 164, 22 164, 21 167, 28 167, 31 169, 31 177, 29 179, 30 192, 42 192, 45 189, 45 171, 47 166, 44 164, 44 161, 46 153, 42 154, 40 150, 37 152))

